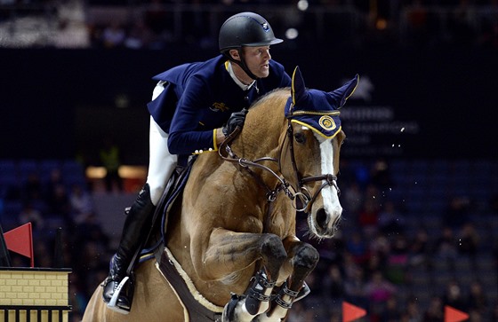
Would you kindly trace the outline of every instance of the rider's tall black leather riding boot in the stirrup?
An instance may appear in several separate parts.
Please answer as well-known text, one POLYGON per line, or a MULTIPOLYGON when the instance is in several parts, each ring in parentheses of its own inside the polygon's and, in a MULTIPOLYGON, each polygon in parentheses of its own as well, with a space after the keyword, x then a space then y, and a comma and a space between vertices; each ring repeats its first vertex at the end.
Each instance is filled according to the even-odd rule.
POLYGON ((155 208, 150 200, 149 184, 145 184, 137 200, 127 211, 119 247, 110 261, 108 278, 103 285, 104 302, 108 303, 111 310, 127 314, 132 308, 133 277, 127 276, 126 271, 134 261, 134 255, 139 251, 141 241, 147 237, 155 208), (125 278, 128 279, 124 280, 125 278), (123 285, 120 286, 121 283, 123 285), (118 295, 111 301, 116 292, 118 295))

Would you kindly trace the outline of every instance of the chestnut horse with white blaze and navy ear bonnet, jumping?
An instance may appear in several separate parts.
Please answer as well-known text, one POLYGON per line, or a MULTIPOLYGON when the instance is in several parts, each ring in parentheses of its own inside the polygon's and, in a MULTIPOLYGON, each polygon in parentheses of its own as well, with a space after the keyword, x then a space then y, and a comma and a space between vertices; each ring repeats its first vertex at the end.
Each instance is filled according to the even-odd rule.
POLYGON ((296 214, 318 240, 338 229, 340 108, 358 76, 330 92, 307 89, 299 67, 292 79, 253 103, 218 153, 198 154, 168 212, 160 260, 134 273, 130 313, 109 310, 97 287, 84 322, 273 322, 308 294, 319 255, 296 237, 296 214), (165 278, 172 269, 180 282, 165 278))

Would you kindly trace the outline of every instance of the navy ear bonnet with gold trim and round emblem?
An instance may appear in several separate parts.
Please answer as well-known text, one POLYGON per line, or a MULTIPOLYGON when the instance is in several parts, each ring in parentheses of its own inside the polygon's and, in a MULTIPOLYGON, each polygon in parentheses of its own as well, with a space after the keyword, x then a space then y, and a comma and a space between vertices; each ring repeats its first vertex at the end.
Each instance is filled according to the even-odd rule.
POLYGON ((359 76, 330 92, 307 90, 299 67, 294 69, 292 96, 285 106, 285 117, 291 122, 314 130, 322 137, 332 138, 341 131, 341 112, 346 100, 357 88, 359 76))

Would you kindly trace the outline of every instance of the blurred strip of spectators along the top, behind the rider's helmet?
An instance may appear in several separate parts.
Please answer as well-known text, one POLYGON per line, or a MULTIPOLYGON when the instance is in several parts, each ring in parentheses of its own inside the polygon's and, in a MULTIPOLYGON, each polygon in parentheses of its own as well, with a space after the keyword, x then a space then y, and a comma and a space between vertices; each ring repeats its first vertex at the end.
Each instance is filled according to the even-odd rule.
POLYGON ((291 48, 332 42, 498 49, 496 0, 0 0, 0 46, 215 50, 222 21, 242 11, 265 16, 291 48), (28 15, 40 20, 23 22, 28 15), (3 29, 17 39, 1 39, 3 29), (16 29, 24 35, 16 37, 16 29))

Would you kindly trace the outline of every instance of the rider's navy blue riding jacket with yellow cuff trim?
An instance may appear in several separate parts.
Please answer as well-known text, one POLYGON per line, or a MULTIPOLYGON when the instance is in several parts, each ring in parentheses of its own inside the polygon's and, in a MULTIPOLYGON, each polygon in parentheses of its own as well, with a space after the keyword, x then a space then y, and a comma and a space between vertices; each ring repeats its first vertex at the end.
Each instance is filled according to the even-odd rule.
POLYGON ((183 64, 153 77, 168 82, 165 90, 148 104, 149 113, 169 133, 172 154, 216 150, 216 131, 230 114, 249 107, 271 90, 291 86, 284 67, 269 61, 269 76, 242 90, 227 70, 228 60, 220 55, 205 62, 183 64))

